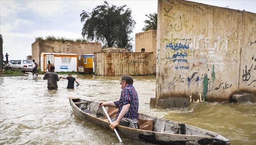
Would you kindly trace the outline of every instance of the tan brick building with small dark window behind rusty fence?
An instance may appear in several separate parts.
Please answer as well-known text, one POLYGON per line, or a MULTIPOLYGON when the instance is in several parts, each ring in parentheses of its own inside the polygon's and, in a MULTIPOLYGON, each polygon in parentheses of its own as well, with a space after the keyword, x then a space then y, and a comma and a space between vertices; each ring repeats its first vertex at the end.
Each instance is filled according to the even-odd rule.
POLYGON ((153 52, 152 64, 153 72, 156 73, 156 30, 135 34, 135 52, 141 52, 144 48, 145 52, 153 52))

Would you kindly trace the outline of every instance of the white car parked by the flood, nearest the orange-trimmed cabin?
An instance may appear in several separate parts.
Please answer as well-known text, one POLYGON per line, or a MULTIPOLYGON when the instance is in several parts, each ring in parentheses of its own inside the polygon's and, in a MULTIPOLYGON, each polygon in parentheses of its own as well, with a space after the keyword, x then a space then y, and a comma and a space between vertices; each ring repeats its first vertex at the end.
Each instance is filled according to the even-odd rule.
POLYGON ((30 60, 16 60, 14 63, 11 63, 8 67, 9 70, 19 70, 22 72, 32 72, 32 63, 30 60))

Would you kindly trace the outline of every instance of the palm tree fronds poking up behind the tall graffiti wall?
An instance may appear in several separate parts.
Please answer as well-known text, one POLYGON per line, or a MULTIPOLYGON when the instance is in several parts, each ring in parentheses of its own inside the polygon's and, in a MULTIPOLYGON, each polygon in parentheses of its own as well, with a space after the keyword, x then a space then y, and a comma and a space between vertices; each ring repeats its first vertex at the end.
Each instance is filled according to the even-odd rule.
POLYGON ((145 20, 144 23, 146 23, 146 25, 144 25, 144 28, 142 29, 142 31, 148 31, 148 30, 157 30, 157 14, 149 14, 146 15, 150 20, 145 20))

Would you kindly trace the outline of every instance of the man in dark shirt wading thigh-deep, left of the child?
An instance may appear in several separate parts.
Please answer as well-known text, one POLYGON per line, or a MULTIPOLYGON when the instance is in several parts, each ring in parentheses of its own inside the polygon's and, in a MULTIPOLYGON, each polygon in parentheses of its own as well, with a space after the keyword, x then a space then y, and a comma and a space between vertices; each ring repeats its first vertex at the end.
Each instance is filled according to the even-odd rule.
POLYGON ((60 78, 59 78, 58 74, 54 72, 54 70, 55 70, 55 67, 51 66, 50 71, 46 72, 43 77, 43 80, 47 79, 48 90, 57 90, 58 89, 57 82, 60 80, 60 78))

